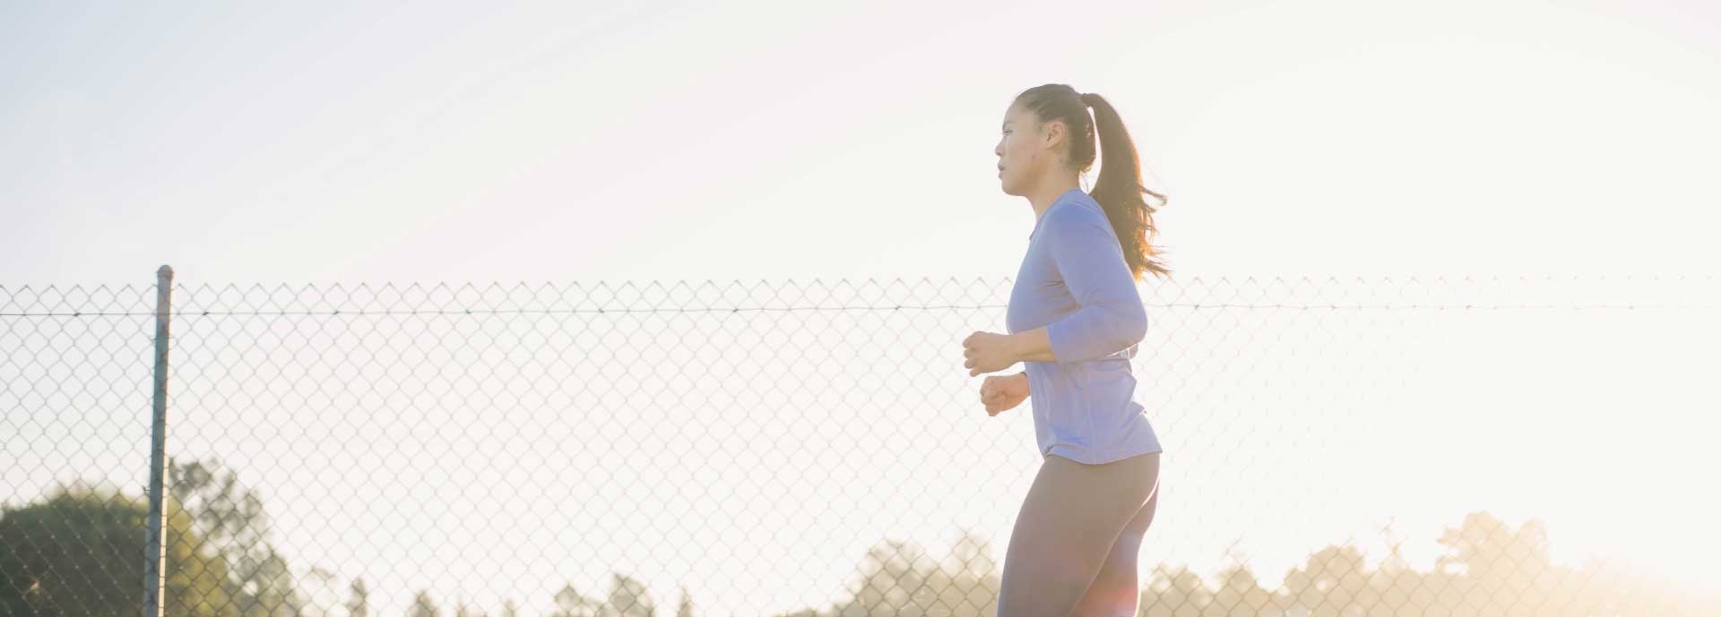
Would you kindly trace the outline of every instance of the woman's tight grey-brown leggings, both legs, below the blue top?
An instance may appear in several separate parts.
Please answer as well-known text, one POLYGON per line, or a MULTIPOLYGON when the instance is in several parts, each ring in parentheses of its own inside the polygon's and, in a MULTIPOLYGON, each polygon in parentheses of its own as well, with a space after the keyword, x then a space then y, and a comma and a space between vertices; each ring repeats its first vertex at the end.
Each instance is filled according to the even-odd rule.
POLYGON ((1095 466, 1048 455, 1010 533, 998 617, 1134 617, 1158 483, 1158 452, 1095 466))

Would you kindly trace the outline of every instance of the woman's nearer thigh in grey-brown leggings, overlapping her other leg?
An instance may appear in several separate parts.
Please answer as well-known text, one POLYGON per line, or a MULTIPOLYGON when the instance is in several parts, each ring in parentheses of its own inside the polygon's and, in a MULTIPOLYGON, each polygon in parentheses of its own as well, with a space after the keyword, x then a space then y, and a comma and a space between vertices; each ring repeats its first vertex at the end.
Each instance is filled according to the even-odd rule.
POLYGON ((1158 485, 1158 454, 1089 466, 1046 457, 1003 559, 998 617, 1065 617, 1158 485))

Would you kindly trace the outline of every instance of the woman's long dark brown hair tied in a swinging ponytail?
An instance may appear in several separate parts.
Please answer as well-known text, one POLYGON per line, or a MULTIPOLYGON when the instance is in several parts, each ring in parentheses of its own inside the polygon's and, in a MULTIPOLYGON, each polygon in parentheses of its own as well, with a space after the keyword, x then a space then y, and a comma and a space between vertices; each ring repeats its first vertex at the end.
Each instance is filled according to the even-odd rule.
POLYGON ((1034 112, 1039 122, 1062 120, 1069 129, 1069 165, 1076 172, 1086 172, 1095 160, 1095 132, 1098 131, 1098 155, 1105 160, 1100 165, 1100 179, 1095 180, 1088 196, 1100 203, 1105 217, 1117 232, 1117 242, 1124 247, 1124 263, 1129 273, 1141 278, 1143 272, 1158 277, 1170 273, 1163 263, 1153 256, 1150 241, 1155 232, 1153 211, 1165 206, 1165 196, 1141 186, 1141 160, 1136 156, 1136 144, 1124 129, 1124 119, 1117 115, 1112 103, 1100 95, 1083 95, 1065 84, 1034 86, 1015 96, 1015 105, 1034 112), (1093 117, 1088 110, 1093 108, 1093 117), (1148 205, 1153 196, 1158 205, 1148 205))

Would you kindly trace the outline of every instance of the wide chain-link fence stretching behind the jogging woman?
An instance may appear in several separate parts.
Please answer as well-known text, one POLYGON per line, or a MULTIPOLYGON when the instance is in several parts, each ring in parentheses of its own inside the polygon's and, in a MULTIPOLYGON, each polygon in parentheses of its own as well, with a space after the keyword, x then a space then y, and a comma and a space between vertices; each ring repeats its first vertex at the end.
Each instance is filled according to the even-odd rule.
MULTIPOLYGON (((1712 278, 1141 289, 1141 615, 1721 615, 1712 278)), ((991 615, 1009 290, 176 284, 165 614, 991 615)), ((0 615, 143 610, 155 301, 0 287, 0 615)))

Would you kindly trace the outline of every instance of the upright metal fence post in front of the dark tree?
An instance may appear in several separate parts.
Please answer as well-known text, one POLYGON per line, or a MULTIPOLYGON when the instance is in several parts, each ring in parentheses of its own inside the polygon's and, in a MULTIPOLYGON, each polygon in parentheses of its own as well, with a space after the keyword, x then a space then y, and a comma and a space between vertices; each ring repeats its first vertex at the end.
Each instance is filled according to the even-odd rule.
POLYGON ((167 538, 162 533, 162 493, 167 485, 167 327, 172 306, 174 268, 155 270, 155 421, 150 425, 150 522, 145 533, 143 617, 162 615, 162 584, 167 579, 167 538))

